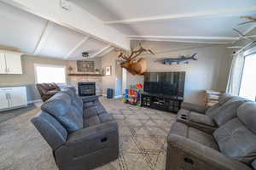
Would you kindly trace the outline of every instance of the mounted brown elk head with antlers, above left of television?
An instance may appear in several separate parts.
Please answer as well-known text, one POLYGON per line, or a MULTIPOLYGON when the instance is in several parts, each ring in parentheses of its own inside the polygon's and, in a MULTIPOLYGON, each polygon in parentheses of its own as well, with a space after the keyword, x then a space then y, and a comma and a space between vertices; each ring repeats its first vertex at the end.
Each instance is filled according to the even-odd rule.
POLYGON ((149 52, 150 54, 154 54, 150 49, 143 48, 142 44, 139 43, 139 49, 134 51, 131 51, 130 55, 124 54, 124 51, 120 51, 119 58, 125 59, 124 62, 122 62, 120 65, 122 68, 125 68, 127 71, 129 71, 132 75, 143 75, 147 70, 147 61, 146 59, 139 59, 136 61, 137 57, 140 54, 149 52))

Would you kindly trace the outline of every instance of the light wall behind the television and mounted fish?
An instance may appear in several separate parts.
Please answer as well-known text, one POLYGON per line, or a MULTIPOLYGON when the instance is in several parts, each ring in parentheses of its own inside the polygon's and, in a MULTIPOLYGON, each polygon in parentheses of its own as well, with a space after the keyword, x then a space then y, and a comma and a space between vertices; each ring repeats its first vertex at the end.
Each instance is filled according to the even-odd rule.
MULTIPOLYGON (((132 42, 133 46, 137 42, 132 42)), ((150 48, 155 55, 145 54, 147 71, 186 71, 184 98, 186 102, 203 105, 204 90, 224 91, 230 71, 230 49, 224 46, 192 44, 180 42, 143 42, 144 48, 150 48), (176 58, 179 55, 197 53, 198 60, 188 65, 163 65, 155 60, 176 58)), ((143 77, 129 75, 129 85, 143 82, 143 77)), ((129 86, 128 86, 129 87, 129 86)))

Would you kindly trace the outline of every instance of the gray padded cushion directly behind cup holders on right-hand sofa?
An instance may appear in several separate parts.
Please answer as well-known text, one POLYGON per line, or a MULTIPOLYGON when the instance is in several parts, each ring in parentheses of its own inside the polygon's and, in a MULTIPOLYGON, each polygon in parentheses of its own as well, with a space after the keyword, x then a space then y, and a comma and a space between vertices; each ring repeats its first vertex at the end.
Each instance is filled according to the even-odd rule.
POLYGON ((193 111, 189 113, 189 121, 200 123, 210 127, 215 127, 215 123, 213 122, 213 119, 211 116, 201 115, 193 111))

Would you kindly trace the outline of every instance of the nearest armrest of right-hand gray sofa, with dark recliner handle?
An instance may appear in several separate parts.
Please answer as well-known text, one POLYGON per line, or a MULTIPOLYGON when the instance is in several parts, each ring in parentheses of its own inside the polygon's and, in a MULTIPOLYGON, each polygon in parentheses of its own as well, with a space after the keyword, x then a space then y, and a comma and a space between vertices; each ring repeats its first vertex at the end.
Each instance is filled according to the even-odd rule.
POLYGON ((169 134, 166 157, 166 170, 250 170, 247 165, 224 156, 193 140, 177 134, 169 134))

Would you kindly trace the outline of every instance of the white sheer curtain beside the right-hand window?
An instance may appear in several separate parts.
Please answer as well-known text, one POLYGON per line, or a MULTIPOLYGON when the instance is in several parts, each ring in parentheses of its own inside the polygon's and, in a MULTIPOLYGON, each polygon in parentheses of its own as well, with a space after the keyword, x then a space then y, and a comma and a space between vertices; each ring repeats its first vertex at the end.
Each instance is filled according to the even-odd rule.
POLYGON ((239 95, 244 60, 245 57, 243 53, 233 56, 230 77, 226 89, 226 92, 229 94, 239 95))

